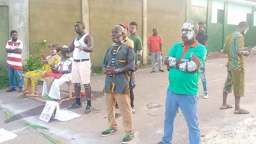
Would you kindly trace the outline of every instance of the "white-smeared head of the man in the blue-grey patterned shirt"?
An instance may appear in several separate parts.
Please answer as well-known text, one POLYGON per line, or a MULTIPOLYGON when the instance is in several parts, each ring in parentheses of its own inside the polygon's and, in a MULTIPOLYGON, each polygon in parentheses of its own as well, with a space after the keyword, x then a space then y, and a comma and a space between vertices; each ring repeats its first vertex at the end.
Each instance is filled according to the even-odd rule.
POLYGON ((111 38, 114 43, 122 41, 123 36, 125 35, 124 28, 122 26, 114 26, 111 30, 111 38))

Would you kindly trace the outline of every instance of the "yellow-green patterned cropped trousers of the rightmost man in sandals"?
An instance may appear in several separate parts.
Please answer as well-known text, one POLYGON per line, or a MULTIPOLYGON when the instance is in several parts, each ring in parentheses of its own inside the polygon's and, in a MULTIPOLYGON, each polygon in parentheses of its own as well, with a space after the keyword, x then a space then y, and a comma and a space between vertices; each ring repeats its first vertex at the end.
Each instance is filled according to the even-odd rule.
POLYGON ((234 90, 235 97, 243 97, 245 91, 245 71, 243 68, 228 68, 228 76, 223 87, 223 92, 231 93, 234 90))

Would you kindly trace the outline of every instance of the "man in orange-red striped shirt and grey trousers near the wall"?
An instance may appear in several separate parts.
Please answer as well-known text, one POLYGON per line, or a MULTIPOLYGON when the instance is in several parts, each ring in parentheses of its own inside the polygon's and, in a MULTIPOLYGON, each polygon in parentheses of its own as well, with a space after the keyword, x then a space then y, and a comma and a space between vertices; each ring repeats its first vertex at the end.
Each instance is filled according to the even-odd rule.
POLYGON ((162 37, 158 35, 158 29, 153 29, 153 34, 149 36, 148 38, 148 49, 149 49, 149 55, 151 55, 151 62, 152 62, 152 71, 151 73, 155 73, 156 71, 156 65, 155 61, 158 62, 158 69, 161 72, 164 72, 162 70, 162 37))

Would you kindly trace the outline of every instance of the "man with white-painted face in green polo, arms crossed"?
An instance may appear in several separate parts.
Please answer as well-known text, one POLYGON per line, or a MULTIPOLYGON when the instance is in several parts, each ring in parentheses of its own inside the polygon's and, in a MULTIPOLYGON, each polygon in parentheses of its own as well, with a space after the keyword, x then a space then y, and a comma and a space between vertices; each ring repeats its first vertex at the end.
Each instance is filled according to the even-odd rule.
POLYGON ((166 92, 164 136, 158 144, 170 144, 174 121, 180 107, 188 126, 190 144, 200 144, 198 120, 198 80, 202 63, 206 59, 205 46, 198 43, 198 23, 186 21, 182 26, 182 41, 175 43, 164 57, 169 71, 166 92))

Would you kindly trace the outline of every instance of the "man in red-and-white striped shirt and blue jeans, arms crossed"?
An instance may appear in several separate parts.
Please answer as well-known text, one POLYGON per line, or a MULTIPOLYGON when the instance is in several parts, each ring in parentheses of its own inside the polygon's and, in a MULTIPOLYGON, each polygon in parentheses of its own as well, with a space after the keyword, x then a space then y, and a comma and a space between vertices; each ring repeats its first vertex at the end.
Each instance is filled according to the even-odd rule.
POLYGON ((17 76, 19 92, 22 91, 23 78, 22 78, 22 59, 21 52, 23 49, 22 41, 18 40, 18 33, 15 30, 11 31, 11 40, 6 42, 5 50, 7 54, 7 64, 9 69, 9 78, 11 89, 6 92, 11 92, 16 90, 14 75, 17 76))

